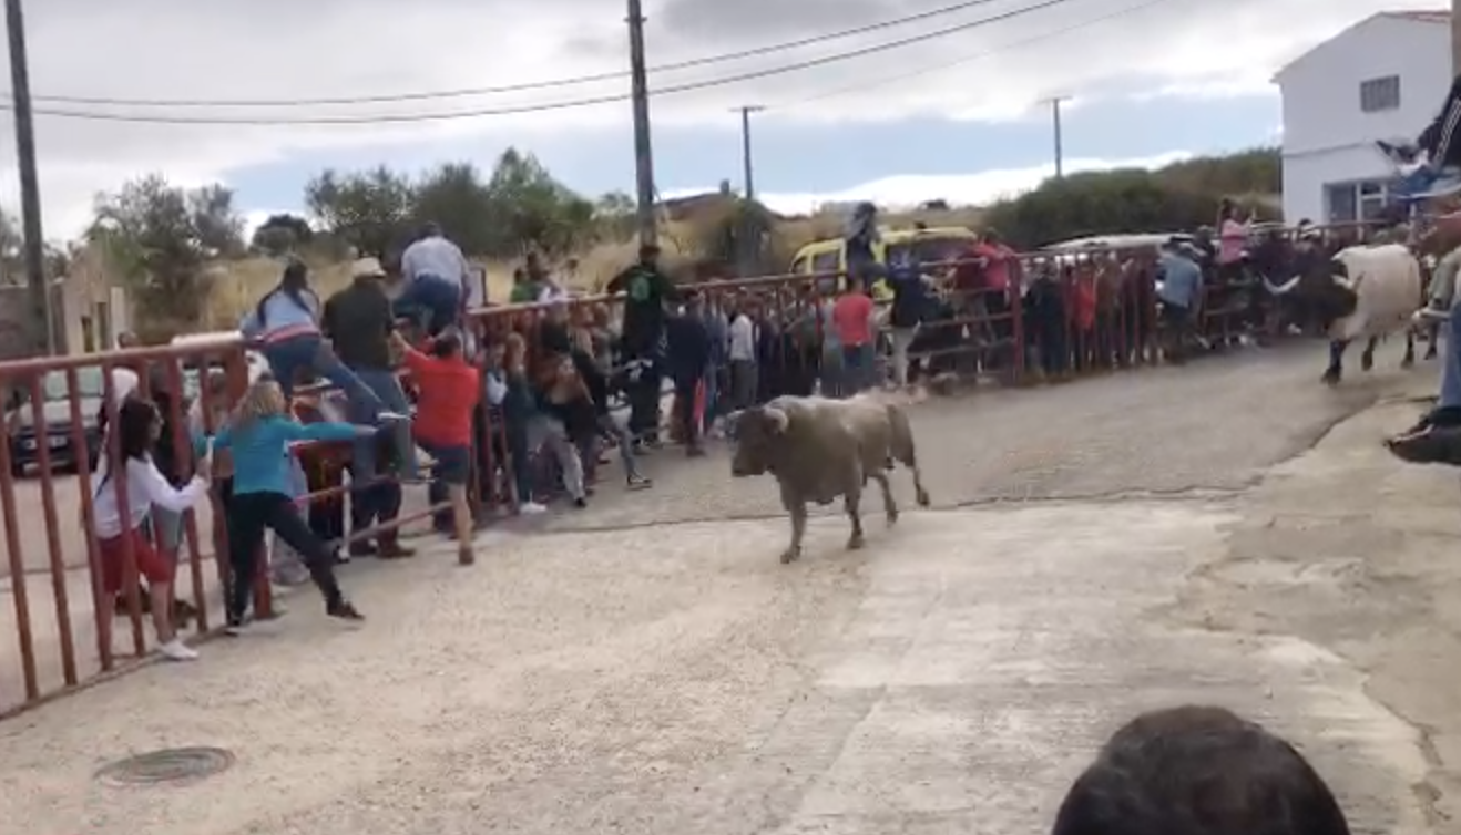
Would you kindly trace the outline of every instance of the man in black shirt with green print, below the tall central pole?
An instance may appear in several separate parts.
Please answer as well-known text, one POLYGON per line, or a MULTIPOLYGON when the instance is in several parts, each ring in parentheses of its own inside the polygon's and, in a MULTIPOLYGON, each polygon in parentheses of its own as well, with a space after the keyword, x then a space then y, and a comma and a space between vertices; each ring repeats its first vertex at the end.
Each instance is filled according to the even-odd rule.
POLYGON ((679 298, 675 283, 659 269, 659 247, 640 247, 640 260, 614 276, 608 292, 624 293, 622 347, 638 366, 630 391, 630 432, 641 441, 659 439, 659 397, 663 380, 665 302, 679 298))

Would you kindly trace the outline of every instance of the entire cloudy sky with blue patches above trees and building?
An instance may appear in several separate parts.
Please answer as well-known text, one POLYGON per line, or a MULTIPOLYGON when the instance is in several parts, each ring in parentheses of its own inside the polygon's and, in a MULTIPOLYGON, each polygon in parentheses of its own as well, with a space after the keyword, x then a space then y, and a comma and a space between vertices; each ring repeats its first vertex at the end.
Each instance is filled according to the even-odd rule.
MULTIPOLYGON (((954 4, 644 0, 649 63, 774 47, 954 4)), ((844 199, 980 201, 1029 187, 1050 171, 1049 109, 1039 102, 1052 95, 1072 98, 1069 169, 1271 143, 1280 128, 1268 83, 1275 69, 1375 12, 1439 4, 986 0, 856 36, 652 70, 650 86, 660 91, 652 101, 656 180, 663 194, 713 188, 723 178, 739 184, 739 117, 730 109, 742 104, 767 108, 752 121, 757 188, 783 210, 844 199), (939 31, 947 34, 923 38, 939 31), (884 48, 906 39, 915 42, 884 48), (839 60, 855 51, 866 54, 839 60)), ((240 206, 259 215, 298 210, 302 184, 326 166, 422 169, 469 159, 488 168, 516 145, 586 194, 633 193, 621 0, 26 6, 48 238, 77 232, 94 194, 149 171, 175 182, 225 181, 240 206), (415 95, 573 76, 606 77, 415 95), (297 107, 399 95, 411 98, 297 107), (266 107, 107 104, 112 99, 266 107), (529 112, 586 101, 599 104, 529 112), (238 124, 250 120, 295 124, 238 124), (349 124, 298 124, 308 120, 349 124)), ((13 209, 13 126, 7 112, 0 121, 0 204, 13 209)))

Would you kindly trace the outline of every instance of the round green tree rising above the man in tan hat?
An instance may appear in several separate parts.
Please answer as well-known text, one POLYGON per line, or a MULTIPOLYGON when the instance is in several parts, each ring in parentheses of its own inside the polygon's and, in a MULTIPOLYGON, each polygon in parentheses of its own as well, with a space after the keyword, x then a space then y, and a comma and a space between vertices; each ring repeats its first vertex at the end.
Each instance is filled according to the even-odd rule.
POLYGON ((326 169, 304 187, 304 204, 336 239, 384 258, 411 234, 415 190, 384 165, 355 174, 326 169))

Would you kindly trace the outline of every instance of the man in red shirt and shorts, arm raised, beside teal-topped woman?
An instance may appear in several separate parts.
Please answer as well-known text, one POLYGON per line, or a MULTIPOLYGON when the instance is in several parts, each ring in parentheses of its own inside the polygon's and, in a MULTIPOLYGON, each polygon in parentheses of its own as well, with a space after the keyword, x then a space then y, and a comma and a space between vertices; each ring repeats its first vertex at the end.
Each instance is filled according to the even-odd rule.
POLYGON ((412 423, 416 444, 435 461, 428 501, 435 507, 443 493, 450 499, 457 561, 472 565, 472 508, 466 502, 466 485, 472 474, 472 416, 482 399, 482 375, 466 362, 462 337, 451 328, 428 342, 427 353, 411 347, 400 331, 392 339, 416 384, 412 423))

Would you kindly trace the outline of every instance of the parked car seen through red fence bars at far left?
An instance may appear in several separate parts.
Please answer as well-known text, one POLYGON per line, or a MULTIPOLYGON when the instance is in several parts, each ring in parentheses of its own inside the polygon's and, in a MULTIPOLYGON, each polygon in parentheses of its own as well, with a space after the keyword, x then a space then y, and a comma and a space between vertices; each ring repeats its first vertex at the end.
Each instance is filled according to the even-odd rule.
MULTIPOLYGON (((98 418, 105 396, 101 368, 76 369, 76 382, 86 448, 77 450, 72 438, 72 401, 64 371, 50 371, 41 380, 41 394, 45 399, 41 403, 45 420, 44 442, 53 467, 77 469, 85 464, 94 469, 101 451, 98 418)), ((19 477, 31 464, 39 463, 42 442, 41 432, 35 426, 29 391, 22 388, 12 396, 4 420, 10 435, 10 473, 19 477)))

